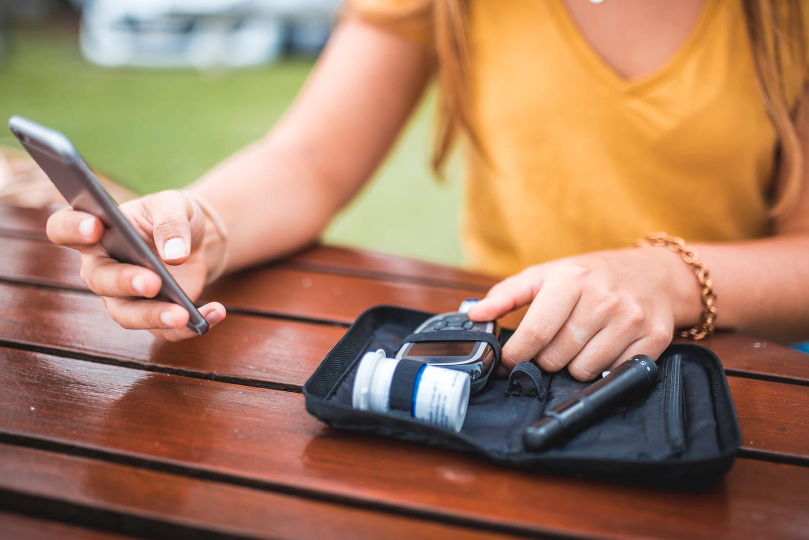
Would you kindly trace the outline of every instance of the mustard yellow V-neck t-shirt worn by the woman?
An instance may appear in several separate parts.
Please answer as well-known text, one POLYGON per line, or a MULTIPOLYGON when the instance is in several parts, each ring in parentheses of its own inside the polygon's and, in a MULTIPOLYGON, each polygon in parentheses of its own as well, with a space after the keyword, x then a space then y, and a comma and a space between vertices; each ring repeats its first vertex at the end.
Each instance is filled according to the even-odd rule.
MULTIPOLYGON (((667 62, 631 81, 595 53, 562 0, 468 4, 472 122, 490 159, 467 152, 471 266, 513 274, 658 231, 688 241, 767 234, 777 133, 740 0, 705 0, 667 62)), ((411 25, 411 37, 413 28, 430 46, 430 21, 411 25)))

